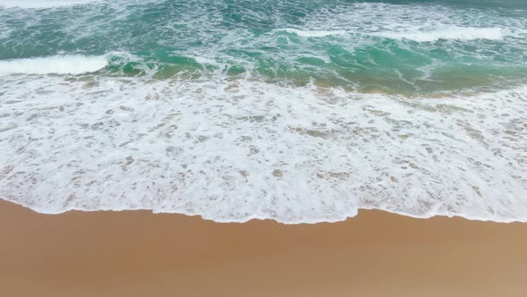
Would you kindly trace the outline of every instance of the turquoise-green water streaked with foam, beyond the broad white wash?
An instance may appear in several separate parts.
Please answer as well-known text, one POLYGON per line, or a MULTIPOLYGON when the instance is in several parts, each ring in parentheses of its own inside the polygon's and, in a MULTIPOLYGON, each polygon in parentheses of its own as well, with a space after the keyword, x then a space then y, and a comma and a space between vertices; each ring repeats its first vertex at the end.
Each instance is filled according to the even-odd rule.
POLYGON ((105 75, 221 72, 361 91, 509 86, 527 78, 525 6, 330 0, 7 8, 0 11, 0 59, 107 55, 105 75))

